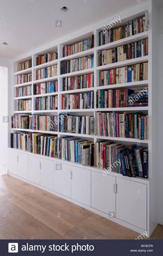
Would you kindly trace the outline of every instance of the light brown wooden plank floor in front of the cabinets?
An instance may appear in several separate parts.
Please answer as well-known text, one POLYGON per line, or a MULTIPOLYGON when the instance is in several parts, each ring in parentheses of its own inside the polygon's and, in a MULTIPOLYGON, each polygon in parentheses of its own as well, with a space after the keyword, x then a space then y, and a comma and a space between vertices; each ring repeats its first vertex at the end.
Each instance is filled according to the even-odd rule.
MULTIPOLYGON (((0 176, 0 239, 136 239, 136 232, 9 175, 0 176)), ((159 225, 153 239, 163 239, 159 225)))

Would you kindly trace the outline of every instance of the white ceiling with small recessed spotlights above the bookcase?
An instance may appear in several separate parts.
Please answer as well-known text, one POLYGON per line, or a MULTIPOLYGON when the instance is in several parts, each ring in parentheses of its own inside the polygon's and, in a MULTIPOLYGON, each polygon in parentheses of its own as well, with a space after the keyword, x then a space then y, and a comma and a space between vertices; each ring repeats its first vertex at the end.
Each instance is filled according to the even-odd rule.
MULTIPOLYGON (((99 22, 139 0, 0 0, 0 57, 15 58, 99 22), (63 13, 60 8, 67 6, 63 13), (118 8, 117 8, 118 6, 118 8), (62 27, 55 27, 62 20, 62 27)), ((146 1, 146 0, 141 0, 146 1)), ((157 0, 162 2, 162 0, 157 0)))

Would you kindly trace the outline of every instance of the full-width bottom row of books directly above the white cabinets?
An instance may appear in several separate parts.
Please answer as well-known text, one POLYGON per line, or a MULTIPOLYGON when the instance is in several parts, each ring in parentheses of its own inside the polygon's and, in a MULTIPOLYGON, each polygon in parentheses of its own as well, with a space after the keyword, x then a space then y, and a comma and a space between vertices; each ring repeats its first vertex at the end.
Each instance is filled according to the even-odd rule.
POLYGON ((94 143, 82 138, 51 136, 49 134, 15 132, 11 147, 95 166, 128 177, 148 178, 148 150, 137 145, 122 145, 110 141, 94 143))

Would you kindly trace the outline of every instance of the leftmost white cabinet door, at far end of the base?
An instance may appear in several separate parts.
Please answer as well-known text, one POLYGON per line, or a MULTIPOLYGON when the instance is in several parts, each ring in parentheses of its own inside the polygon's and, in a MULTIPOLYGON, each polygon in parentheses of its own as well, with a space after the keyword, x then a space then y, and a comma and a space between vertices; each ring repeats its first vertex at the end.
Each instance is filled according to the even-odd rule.
POLYGON ((8 150, 8 171, 9 171, 9 173, 19 175, 18 160, 19 160, 19 153, 14 150, 8 150))

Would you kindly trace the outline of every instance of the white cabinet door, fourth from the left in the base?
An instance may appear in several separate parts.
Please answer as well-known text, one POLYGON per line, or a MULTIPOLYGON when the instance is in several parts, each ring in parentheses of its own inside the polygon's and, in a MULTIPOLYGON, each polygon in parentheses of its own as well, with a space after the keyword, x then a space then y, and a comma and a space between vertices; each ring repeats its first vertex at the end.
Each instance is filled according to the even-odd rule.
POLYGON ((41 185, 54 190, 54 168, 53 161, 50 159, 42 159, 41 161, 41 185))

